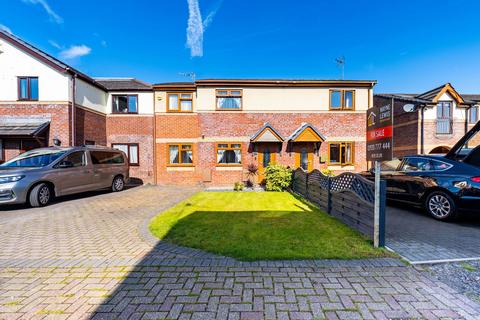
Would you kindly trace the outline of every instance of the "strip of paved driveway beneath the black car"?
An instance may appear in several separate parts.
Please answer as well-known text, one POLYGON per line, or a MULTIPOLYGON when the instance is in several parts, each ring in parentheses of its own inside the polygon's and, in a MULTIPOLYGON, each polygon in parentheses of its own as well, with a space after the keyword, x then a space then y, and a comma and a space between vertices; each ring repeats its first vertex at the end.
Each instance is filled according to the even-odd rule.
POLYGON ((421 209, 387 207, 386 244, 411 263, 480 259, 480 213, 441 222, 421 209))

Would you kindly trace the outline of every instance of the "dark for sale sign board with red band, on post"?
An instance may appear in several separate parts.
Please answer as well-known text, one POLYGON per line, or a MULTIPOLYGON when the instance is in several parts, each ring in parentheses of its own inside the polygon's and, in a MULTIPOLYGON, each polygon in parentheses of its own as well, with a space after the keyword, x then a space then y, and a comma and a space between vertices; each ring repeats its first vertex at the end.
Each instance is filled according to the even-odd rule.
POLYGON ((367 110, 367 160, 392 160, 393 108, 387 104, 367 110))

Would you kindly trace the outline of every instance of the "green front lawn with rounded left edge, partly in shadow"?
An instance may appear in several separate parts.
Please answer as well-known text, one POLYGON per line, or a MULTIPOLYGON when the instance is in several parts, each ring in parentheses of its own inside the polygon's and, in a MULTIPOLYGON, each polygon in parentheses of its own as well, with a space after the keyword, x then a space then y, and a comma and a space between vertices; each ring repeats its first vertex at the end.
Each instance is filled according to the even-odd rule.
POLYGON ((201 192, 150 223, 160 239, 241 260, 388 256, 287 192, 201 192))

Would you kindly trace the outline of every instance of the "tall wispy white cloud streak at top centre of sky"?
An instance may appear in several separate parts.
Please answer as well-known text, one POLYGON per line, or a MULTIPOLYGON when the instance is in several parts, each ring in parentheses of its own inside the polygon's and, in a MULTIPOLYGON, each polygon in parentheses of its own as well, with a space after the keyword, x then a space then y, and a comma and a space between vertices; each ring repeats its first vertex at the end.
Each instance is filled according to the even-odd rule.
POLYGON ((213 17, 217 13, 223 0, 217 2, 214 10, 212 10, 205 21, 202 22, 202 14, 200 13, 200 5, 198 0, 187 0, 188 2, 188 26, 187 26, 187 48, 190 49, 191 57, 203 56, 203 33, 205 29, 212 23, 213 17))

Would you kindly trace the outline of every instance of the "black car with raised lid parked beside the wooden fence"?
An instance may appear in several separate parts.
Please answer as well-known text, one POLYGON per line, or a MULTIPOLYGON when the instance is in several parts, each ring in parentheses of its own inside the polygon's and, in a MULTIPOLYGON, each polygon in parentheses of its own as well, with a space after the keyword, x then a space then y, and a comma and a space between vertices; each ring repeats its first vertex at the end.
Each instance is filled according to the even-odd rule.
MULTIPOLYGON (((455 219, 461 209, 479 210, 479 131, 480 122, 443 156, 413 155, 382 163, 387 199, 423 206, 438 220, 455 219)), ((369 179, 373 174, 365 173, 369 179)))

